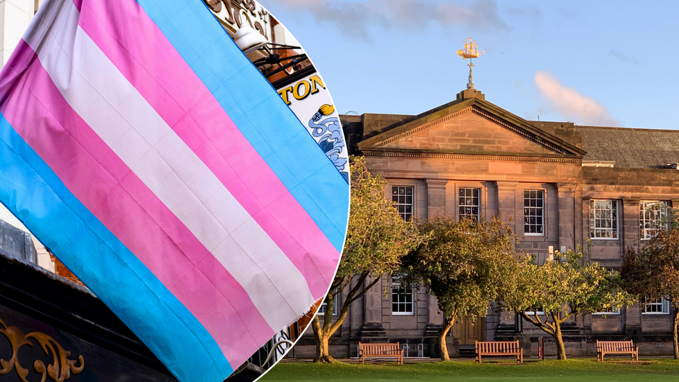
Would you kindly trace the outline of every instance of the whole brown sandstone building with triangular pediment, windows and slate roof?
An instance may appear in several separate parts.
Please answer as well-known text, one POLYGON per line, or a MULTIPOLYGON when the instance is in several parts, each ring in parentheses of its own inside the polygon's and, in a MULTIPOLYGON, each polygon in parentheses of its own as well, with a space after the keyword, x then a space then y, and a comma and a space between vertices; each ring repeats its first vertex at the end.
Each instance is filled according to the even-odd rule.
MULTIPOLYGON (((385 177, 385 197, 404 218, 511 219, 517 249, 540 262, 589 238, 592 261, 618 269, 625 248, 658 229, 679 202, 676 130, 527 121, 473 89, 417 116, 344 116, 343 125, 354 154, 385 177)), ((642 354, 671 354, 669 304, 656 296, 646 302, 565 322, 567 354, 594 354, 597 339, 633 339, 642 354)), ((475 340, 501 339, 537 353, 545 333, 513 313, 488 313, 455 324, 451 356, 473 351, 475 340)), ((385 277, 351 306, 330 353, 355 356, 359 341, 398 341, 408 356, 438 356, 432 345, 441 323, 435 297, 385 277)), ((313 343, 309 333, 294 355, 312 356, 313 343)), ((555 354, 547 342, 547 355, 550 347, 555 354)))

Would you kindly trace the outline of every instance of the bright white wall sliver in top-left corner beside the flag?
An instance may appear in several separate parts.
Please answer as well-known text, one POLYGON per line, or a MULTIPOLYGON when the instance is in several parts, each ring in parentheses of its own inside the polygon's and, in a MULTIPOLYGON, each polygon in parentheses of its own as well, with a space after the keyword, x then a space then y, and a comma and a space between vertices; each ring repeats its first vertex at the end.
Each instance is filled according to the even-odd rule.
POLYGON ((0 0, 0 64, 4 65, 19 44, 30 19, 35 0, 0 0))

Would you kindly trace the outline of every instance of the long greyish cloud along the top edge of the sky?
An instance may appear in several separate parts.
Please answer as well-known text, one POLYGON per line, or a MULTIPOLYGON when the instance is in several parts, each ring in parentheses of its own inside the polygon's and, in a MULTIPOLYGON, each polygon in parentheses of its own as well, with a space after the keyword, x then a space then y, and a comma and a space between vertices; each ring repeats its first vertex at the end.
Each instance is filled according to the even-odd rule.
POLYGON ((328 22, 345 35, 371 40, 371 27, 422 31, 427 24, 466 26, 480 31, 511 31, 495 0, 270 0, 292 10, 308 10, 317 22, 328 22))

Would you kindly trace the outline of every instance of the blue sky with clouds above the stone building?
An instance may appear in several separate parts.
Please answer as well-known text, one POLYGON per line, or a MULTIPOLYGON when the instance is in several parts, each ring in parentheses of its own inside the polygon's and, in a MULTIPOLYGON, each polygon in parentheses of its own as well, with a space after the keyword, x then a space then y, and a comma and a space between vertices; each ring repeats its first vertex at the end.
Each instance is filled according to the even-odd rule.
POLYGON ((524 119, 679 130, 679 1, 260 0, 337 110, 419 114, 476 89, 524 119))

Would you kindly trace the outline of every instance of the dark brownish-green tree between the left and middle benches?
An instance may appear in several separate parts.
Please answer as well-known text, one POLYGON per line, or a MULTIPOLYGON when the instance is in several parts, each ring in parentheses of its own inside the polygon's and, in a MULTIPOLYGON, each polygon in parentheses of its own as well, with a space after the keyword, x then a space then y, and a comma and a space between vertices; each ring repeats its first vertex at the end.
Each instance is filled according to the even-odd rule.
POLYGON ((446 336, 455 320, 485 317, 490 302, 511 284, 515 236, 496 218, 456 222, 436 216, 417 225, 431 237, 404 259, 403 272, 409 284, 422 283, 436 296, 443 313, 441 360, 449 361, 446 336))

